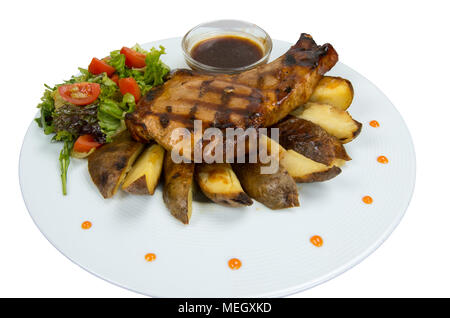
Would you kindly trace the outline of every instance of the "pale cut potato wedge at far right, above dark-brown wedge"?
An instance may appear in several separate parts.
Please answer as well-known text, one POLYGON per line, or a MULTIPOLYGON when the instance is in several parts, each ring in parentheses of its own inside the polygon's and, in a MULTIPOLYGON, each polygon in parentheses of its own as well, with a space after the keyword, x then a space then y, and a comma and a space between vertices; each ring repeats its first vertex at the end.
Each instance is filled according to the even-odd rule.
POLYGON ((344 144, 355 139, 362 128, 362 124, 354 120, 347 111, 327 104, 309 102, 294 110, 291 115, 319 125, 344 144))

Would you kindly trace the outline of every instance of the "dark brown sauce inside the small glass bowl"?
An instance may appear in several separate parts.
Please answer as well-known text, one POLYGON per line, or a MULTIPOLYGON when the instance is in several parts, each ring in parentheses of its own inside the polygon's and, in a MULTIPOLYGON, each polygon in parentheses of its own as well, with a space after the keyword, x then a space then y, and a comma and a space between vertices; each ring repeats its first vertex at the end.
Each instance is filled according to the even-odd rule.
POLYGON ((264 56, 264 52, 250 39, 225 35, 197 43, 191 50, 191 56, 209 66, 236 68, 257 62, 264 56))

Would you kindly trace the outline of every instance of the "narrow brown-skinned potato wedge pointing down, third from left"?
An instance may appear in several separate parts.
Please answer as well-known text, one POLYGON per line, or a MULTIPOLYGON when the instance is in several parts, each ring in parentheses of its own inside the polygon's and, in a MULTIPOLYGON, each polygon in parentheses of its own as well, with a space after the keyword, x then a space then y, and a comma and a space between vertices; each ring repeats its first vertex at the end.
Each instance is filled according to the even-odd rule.
POLYGON ((164 159, 163 199, 170 213, 188 224, 192 215, 193 163, 174 163, 170 154, 164 159))

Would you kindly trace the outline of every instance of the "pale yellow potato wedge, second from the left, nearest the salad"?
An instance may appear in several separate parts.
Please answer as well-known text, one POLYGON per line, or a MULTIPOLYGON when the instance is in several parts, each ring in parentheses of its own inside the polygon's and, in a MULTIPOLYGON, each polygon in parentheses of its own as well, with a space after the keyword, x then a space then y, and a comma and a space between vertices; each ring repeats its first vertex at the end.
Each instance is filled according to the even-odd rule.
POLYGON ((122 190, 133 194, 152 195, 158 185, 164 162, 164 148, 148 147, 137 159, 122 184, 122 190))

